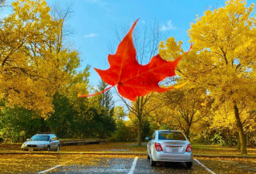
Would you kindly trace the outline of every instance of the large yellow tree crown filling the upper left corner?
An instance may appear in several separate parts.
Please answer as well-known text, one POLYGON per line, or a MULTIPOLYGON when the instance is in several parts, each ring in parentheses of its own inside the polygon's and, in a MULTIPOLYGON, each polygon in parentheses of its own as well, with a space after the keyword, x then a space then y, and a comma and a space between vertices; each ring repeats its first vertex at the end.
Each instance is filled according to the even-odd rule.
POLYGON ((19 0, 12 8, 0 21, 0 99, 46 117, 78 53, 64 48, 64 20, 52 17, 44 0, 19 0))

